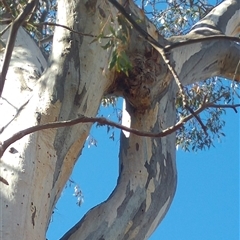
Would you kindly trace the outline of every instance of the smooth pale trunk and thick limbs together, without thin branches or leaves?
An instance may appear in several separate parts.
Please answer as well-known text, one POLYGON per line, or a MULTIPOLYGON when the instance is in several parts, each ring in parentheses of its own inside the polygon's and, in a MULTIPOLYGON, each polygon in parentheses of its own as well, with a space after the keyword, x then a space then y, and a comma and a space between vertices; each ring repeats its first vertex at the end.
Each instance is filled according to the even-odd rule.
MULTIPOLYGON (((235 35, 239 19, 233 17, 239 13, 239 5, 237 1, 225 1, 216 8, 215 15, 210 13, 187 37, 204 36, 206 22, 208 34, 217 34, 217 28, 235 35), (216 20, 216 15, 221 21, 216 20)), ((58 9, 58 23, 95 36, 106 22, 110 24, 108 16, 116 19, 117 14, 112 5, 100 0, 60 0, 58 9)), ((131 1, 126 9, 142 19, 142 27, 159 42, 181 39, 158 36, 131 1)), ((114 27, 117 25, 115 20, 114 27)), ((105 30, 108 34, 107 27, 105 30)), ((1 141, 37 124, 73 119, 79 114, 94 117, 106 94, 125 97, 123 118, 129 114, 132 128, 160 132, 174 125, 178 89, 170 71, 161 55, 134 29, 130 39, 127 51, 133 69, 126 76, 108 70, 111 51, 101 48, 108 40, 99 44, 89 36, 56 28, 47 63, 37 45, 20 29, 1 99, 1 141)), ((239 53, 240 47, 234 42, 209 40, 173 49, 169 59, 187 85, 213 75, 239 80, 239 53)), ((53 208, 90 127, 79 124, 43 130, 25 136, 4 153, 0 175, 9 185, 0 182, 3 239, 45 238, 53 208)), ((147 239, 165 216, 175 193, 175 139, 174 133, 147 138, 123 132, 115 190, 62 239, 147 239)))

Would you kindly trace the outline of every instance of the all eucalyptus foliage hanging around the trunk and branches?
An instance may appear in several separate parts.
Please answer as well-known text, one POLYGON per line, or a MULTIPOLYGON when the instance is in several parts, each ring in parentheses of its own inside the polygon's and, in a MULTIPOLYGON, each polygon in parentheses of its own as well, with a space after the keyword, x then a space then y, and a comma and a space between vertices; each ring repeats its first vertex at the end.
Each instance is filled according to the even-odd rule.
MULTIPOLYGON (((0 13, 7 18, 16 18, 26 4, 26 0, 12 1, 5 0, 0 3, 0 13)), ((187 33, 191 27, 201 18, 203 18, 215 5, 221 1, 193 1, 193 0, 138 0, 135 1, 145 14, 155 24, 160 34, 164 37, 173 35, 182 35, 187 33)), ((36 11, 24 24, 24 28, 35 39, 45 55, 49 55, 52 46, 52 36, 54 26, 46 23, 55 23, 56 21, 56 1, 40 0, 36 11)), ((109 68, 114 68, 118 72, 128 75, 131 70, 131 62, 126 49, 129 38, 129 24, 119 16, 119 27, 105 29, 104 33, 93 38, 92 41, 99 41, 107 38, 102 48, 106 51, 112 51, 112 58, 109 62, 109 68), (107 32, 107 33, 106 33, 107 32)), ((84 33, 83 33, 84 34, 84 33)), ((218 77, 208 79, 185 88, 189 106, 197 109, 204 101, 215 104, 233 104, 239 98, 239 84, 230 79, 230 83, 218 77)), ((182 96, 176 97, 177 119, 183 118, 189 114, 184 108, 182 96)), ((116 105, 117 98, 114 96, 104 97, 103 106, 116 105)), ((198 121, 193 118, 177 131, 177 147, 186 151, 197 151, 214 146, 215 140, 220 140, 224 134, 223 114, 226 110, 223 107, 208 108, 201 115, 201 120, 206 126, 207 134, 202 129, 198 121)))

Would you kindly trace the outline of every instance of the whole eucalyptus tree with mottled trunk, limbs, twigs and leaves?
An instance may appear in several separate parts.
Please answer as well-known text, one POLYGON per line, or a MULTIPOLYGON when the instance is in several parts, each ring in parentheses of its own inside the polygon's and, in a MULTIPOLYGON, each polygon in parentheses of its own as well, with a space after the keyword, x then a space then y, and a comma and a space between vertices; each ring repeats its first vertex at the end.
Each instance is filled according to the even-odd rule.
POLYGON ((3 239, 45 238, 93 122, 125 130, 117 186, 62 239, 147 239, 174 197, 176 144, 211 146, 238 106, 239 0, 119 2, 1 3, 3 239), (96 118, 118 96, 123 125, 96 118))

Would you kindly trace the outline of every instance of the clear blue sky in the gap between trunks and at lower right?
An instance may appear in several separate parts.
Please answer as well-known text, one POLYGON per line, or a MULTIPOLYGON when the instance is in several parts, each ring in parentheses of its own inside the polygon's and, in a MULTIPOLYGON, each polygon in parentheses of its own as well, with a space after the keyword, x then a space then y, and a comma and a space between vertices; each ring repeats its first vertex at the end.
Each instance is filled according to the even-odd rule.
MULTIPOLYGON (((112 108, 101 114, 114 116, 112 108)), ((215 148, 197 153, 177 151, 178 187, 171 208, 150 240, 239 240, 239 113, 227 110, 225 133, 215 148)), ((67 186, 54 211, 48 240, 59 239, 116 185, 119 134, 93 127, 97 147, 83 150, 71 179, 84 194, 76 205, 74 184, 67 186)))

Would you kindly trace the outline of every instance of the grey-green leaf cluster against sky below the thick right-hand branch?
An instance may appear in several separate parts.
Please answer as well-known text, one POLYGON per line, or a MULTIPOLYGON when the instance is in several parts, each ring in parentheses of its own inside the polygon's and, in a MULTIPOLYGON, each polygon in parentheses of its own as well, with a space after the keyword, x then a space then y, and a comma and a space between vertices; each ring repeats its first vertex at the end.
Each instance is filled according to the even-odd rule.
MULTIPOLYGON (((239 89, 239 85, 235 85, 239 89)), ((185 89, 188 104, 196 110, 204 102, 214 102, 216 107, 207 108, 200 114, 200 118, 207 129, 198 124, 195 118, 187 122, 177 131, 177 147, 181 147, 184 151, 205 150, 214 146, 214 142, 220 141, 224 134, 225 121, 223 115, 226 114, 224 105, 233 104, 236 89, 232 85, 226 83, 221 78, 211 78, 204 82, 193 84, 185 89), (221 104, 221 107, 218 105, 221 104)), ((176 98, 177 120, 187 116, 189 111, 184 108, 182 96, 176 98)))

